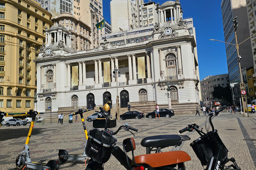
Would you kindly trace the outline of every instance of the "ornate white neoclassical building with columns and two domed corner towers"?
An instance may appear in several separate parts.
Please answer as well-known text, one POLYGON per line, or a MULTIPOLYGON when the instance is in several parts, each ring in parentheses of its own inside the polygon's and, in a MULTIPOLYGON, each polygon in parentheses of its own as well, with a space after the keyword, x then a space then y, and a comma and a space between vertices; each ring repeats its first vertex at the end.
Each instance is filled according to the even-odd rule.
POLYGON ((121 32, 126 37, 122 44, 111 43, 116 41, 112 36, 97 48, 79 52, 72 48, 72 35, 65 27, 59 24, 46 30, 45 46, 35 60, 37 111, 47 112, 50 106, 52 112, 101 106, 108 100, 115 108, 116 96, 121 108, 128 103, 168 108, 167 88, 177 111, 197 105, 196 41, 182 19, 179 1, 158 4, 157 14, 154 27, 121 32))

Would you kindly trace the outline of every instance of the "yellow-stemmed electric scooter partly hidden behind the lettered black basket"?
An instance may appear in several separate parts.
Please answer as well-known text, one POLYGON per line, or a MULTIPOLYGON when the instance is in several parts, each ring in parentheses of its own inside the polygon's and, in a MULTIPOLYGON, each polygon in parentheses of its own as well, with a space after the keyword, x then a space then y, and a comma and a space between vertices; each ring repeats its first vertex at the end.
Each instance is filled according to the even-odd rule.
MULTIPOLYGON (((79 109, 78 112, 71 113, 71 114, 68 115, 68 116, 74 116, 74 115, 79 114, 81 116, 81 120, 82 120, 82 124, 83 124, 83 127, 84 127, 84 133, 85 133, 86 140, 88 139, 88 135, 87 135, 86 126, 85 126, 85 123, 84 123, 83 113, 91 111, 91 110, 92 110, 92 108, 85 109, 85 110, 79 109)), ((72 155, 69 155, 68 152, 64 149, 59 149, 59 154, 58 155, 59 155, 59 159, 62 163, 65 163, 67 160, 85 160, 85 159, 89 159, 89 157, 85 154, 85 149, 84 149, 83 154, 72 154, 72 155)))

